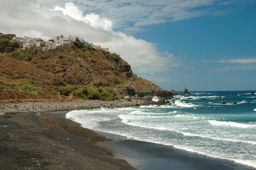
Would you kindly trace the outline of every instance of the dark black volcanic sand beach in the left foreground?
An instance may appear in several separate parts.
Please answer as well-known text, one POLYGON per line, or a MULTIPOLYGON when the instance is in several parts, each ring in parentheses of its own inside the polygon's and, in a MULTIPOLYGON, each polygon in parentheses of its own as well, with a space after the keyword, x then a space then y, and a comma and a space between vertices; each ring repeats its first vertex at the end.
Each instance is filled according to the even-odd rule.
POLYGON ((92 130, 63 116, 42 116, 49 124, 38 118, 35 113, 0 116, 1 170, 135 170, 126 161, 110 156, 111 153, 99 151, 100 147, 84 146, 88 141, 109 141, 92 130))

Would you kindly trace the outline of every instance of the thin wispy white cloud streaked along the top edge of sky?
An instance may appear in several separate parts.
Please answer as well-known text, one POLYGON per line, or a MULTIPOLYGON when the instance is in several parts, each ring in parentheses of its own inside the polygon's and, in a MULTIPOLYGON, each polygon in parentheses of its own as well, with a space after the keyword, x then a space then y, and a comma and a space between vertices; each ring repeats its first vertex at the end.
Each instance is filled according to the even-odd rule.
POLYGON ((59 5, 58 9, 63 9, 69 1, 79 4, 84 14, 109 18, 119 30, 131 27, 133 32, 141 32, 140 27, 151 24, 229 14, 225 12, 228 5, 240 7, 241 3, 252 0, 37 0, 37 4, 52 8, 59 5))

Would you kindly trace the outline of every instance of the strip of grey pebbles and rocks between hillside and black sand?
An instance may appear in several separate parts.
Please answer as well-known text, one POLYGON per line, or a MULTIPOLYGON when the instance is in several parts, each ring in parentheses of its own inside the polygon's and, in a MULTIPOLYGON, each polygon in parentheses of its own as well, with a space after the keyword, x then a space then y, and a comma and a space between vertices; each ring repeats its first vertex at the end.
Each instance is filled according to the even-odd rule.
POLYGON ((24 102, 17 104, 0 104, 0 115, 16 112, 55 112, 71 111, 79 109, 96 109, 100 107, 135 107, 149 104, 164 104, 165 98, 160 101, 152 101, 152 97, 144 98, 125 97, 117 101, 99 101, 99 100, 74 100, 74 101, 45 101, 45 102, 24 102))

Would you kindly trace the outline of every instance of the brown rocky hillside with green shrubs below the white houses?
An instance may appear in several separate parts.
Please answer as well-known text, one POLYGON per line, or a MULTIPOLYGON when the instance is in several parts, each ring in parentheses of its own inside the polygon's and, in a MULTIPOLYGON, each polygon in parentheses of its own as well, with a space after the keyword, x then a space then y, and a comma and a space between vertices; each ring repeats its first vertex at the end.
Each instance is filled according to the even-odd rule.
MULTIPOLYGON (((106 87, 108 93, 118 96, 126 89, 118 87, 129 83, 134 83, 129 88, 136 92, 163 92, 151 81, 136 78, 131 66, 115 53, 81 46, 79 42, 72 46, 58 46, 46 52, 41 49, 34 46, 0 53, 0 100, 57 99, 60 95, 62 98, 70 98, 73 92, 76 95, 73 99, 87 99, 90 91, 95 89, 99 89, 96 95, 105 94, 101 89, 103 87, 106 87), (67 94, 61 91, 63 87, 68 89, 67 94), (62 93, 70 96, 66 97, 62 93)), ((88 98, 97 99, 96 95, 88 98)), ((106 98, 104 100, 110 100, 106 98)))

